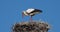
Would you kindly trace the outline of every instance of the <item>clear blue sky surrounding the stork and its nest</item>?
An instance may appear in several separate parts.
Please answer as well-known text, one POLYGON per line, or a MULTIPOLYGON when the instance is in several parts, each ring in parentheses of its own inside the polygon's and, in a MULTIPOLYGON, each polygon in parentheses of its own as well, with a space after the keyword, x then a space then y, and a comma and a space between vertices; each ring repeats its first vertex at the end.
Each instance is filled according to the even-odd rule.
POLYGON ((52 26, 49 32, 60 31, 60 0, 0 0, 0 32, 11 32, 11 26, 22 21, 21 13, 28 8, 43 11, 33 19, 47 21, 52 26))

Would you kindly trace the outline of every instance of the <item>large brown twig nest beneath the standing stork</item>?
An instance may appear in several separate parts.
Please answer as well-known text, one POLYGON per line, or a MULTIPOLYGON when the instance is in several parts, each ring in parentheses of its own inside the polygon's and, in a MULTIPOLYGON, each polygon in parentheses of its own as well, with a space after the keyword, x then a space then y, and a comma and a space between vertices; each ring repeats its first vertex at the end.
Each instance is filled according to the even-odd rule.
POLYGON ((42 22, 23 22, 13 26, 13 32, 47 32, 49 25, 42 22))

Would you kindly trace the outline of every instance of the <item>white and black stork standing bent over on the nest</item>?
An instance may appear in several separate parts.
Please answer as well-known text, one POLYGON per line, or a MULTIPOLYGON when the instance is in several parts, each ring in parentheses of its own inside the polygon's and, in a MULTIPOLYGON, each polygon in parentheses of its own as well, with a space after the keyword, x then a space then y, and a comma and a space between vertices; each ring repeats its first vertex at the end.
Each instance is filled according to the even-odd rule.
POLYGON ((39 14, 39 13, 42 13, 42 11, 39 9, 30 8, 30 9, 27 9, 26 11, 22 12, 22 17, 30 16, 30 20, 32 21, 32 16, 39 14))

